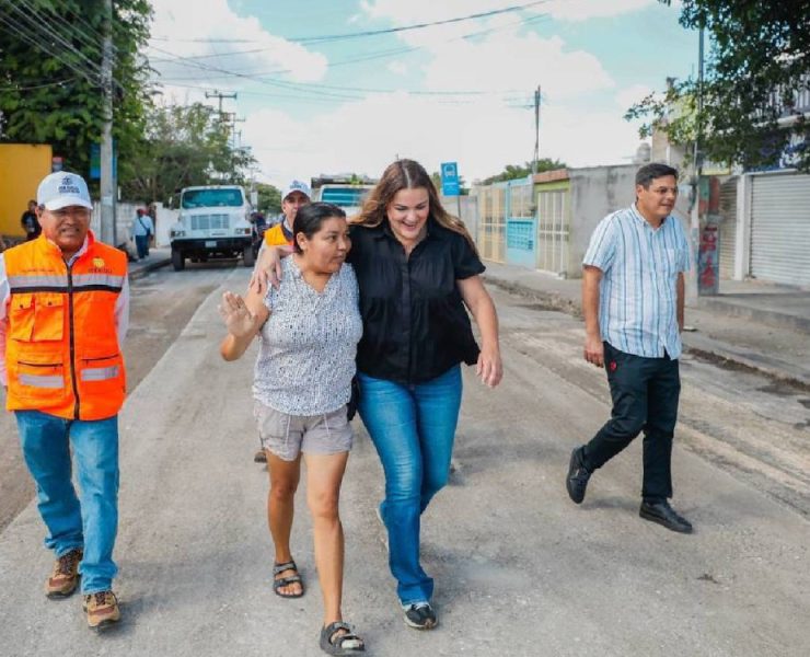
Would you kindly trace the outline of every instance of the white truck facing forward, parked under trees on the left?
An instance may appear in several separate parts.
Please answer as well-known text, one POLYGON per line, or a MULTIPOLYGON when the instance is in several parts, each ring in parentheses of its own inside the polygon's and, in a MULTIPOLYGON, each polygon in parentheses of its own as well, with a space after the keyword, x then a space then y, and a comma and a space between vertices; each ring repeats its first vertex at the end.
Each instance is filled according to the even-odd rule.
POLYGON ((242 257, 252 267, 250 217, 251 204, 240 185, 183 188, 177 221, 169 230, 174 270, 183 269, 186 258, 242 257))

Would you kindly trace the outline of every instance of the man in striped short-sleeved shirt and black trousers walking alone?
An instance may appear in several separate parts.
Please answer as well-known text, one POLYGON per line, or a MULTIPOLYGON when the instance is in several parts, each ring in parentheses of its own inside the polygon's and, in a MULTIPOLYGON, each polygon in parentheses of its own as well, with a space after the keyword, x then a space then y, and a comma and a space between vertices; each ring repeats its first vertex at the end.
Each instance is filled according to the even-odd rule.
POLYGON ((636 203, 605 217, 585 255, 585 358, 604 367, 611 419, 571 453, 566 487, 580 504, 591 474, 644 431, 639 515, 690 533, 692 525, 669 504, 672 435, 681 381, 684 279, 690 247, 672 216, 678 172, 647 164, 636 173, 636 203))

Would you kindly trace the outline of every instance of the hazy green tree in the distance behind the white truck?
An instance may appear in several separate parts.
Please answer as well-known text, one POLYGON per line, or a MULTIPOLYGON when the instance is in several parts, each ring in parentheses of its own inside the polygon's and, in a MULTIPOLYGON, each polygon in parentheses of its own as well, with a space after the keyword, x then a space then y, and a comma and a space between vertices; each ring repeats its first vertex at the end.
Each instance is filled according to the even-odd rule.
POLYGON ((141 148, 121 182, 126 198, 167 203, 189 185, 245 184, 255 162, 246 149, 230 146, 230 128, 202 103, 158 105, 146 117, 141 148))

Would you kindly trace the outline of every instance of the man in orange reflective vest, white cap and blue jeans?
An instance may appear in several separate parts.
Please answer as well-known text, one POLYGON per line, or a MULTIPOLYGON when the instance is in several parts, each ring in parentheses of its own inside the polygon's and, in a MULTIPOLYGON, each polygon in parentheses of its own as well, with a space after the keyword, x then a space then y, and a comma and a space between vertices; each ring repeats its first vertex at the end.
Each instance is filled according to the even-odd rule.
POLYGON ((90 230, 92 207, 81 176, 51 173, 37 189, 42 234, 0 254, 0 381, 56 555, 45 592, 70 596, 81 578, 97 629, 120 619, 112 585, 129 287, 126 254, 90 230))

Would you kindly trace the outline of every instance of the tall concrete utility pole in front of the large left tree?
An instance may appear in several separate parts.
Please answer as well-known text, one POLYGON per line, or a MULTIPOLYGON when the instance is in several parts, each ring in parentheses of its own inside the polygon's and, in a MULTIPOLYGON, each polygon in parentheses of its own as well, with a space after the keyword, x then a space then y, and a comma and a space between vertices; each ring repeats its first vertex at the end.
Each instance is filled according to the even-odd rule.
POLYGON ((113 0, 104 1, 101 69, 104 126, 101 143, 101 240, 115 245, 115 171, 113 170, 113 0))

